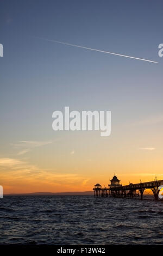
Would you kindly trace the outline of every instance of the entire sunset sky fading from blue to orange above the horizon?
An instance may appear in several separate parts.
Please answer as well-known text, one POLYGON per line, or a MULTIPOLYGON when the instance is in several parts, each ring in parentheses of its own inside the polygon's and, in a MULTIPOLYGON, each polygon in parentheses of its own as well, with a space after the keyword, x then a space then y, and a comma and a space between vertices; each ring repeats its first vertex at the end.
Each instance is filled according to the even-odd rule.
POLYGON ((115 173, 123 185, 163 179, 162 20, 159 0, 1 0, 4 193, 90 191, 115 173), (54 131, 65 106, 111 111, 111 135, 54 131))

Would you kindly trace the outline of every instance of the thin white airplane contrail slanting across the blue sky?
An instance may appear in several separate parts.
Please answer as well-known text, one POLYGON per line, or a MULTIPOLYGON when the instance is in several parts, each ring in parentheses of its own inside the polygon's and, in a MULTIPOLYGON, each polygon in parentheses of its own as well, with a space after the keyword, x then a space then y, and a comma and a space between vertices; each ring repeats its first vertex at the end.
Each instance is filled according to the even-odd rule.
POLYGON ((136 58, 136 57, 133 57, 133 56, 123 55, 123 54, 120 54, 120 53, 107 52, 107 51, 93 49, 93 48, 89 48, 89 47, 85 47, 85 46, 81 46, 81 45, 68 44, 67 42, 54 41, 54 40, 51 40, 51 39, 38 38, 38 37, 35 37, 35 38, 42 39, 42 40, 49 41, 49 42, 57 42, 57 44, 63 44, 63 45, 69 45, 69 46, 74 46, 74 47, 78 47, 78 48, 83 48, 83 49, 86 49, 86 50, 91 50, 91 51, 96 51, 96 52, 103 52, 103 53, 108 53, 108 54, 117 55, 117 56, 121 56, 121 57, 131 58, 131 59, 144 60, 145 62, 158 63, 158 62, 154 62, 153 60, 149 60, 149 59, 141 59, 141 58, 136 58))

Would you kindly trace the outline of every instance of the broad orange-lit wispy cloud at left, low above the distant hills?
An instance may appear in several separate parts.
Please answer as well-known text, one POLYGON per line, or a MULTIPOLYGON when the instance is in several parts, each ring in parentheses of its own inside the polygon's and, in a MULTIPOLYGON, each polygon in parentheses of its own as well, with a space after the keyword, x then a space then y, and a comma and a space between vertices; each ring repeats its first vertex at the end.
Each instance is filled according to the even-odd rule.
POLYGON ((0 158, 1 179, 9 185, 9 181, 22 180, 22 182, 41 182, 41 184, 51 184, 60 186, 70 186, 74 184, 85 185, 89 180, 85 176, 76 173, 59 173, 56 170, 41 169, 36 165, 26 161, 11 158, 0 158))

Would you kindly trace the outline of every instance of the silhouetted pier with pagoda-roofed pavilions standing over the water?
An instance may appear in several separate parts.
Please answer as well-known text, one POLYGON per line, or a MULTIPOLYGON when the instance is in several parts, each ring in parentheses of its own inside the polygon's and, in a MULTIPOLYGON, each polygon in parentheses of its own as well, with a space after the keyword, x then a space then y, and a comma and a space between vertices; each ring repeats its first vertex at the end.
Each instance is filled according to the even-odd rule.
POLYGON ((112 178, 111 184, 108 187, 102 187, 100 184, 96 184, 93 187, 94 197, 117 197, 117 198, 134 198, 139 197, 143 199, 143 192, 146 189, 151 189, 154 194, 154 199, 158 200, 160 186, 163 185, 163 180, 154 180, 148 182, 140 182, 137 184, 130 183, 129 185, 120 185, 120 180, 117 176, 112 178), (140 193, 139 193, 140 192, 140 193))

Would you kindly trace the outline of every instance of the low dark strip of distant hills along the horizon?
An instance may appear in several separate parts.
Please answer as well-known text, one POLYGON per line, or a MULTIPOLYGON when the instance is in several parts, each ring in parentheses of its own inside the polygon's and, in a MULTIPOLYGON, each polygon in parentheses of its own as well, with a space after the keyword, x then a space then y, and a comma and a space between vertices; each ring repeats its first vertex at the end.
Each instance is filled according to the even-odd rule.
POLYGON ((33 193, 11 193, 4 194, 4 196, 89 196, 92 195, 93 191, 83 192, 33 192, 33 193))

